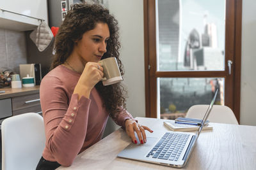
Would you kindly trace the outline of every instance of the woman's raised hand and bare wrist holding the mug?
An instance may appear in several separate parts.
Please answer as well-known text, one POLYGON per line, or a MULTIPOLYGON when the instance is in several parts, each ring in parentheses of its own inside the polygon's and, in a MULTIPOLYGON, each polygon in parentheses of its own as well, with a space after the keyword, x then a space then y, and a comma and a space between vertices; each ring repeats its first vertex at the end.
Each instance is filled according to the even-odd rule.
POLYGON ((103 67, 98 62, 87 62, 74 89, 74 94, 78 94, 79 99, 81 96, 89 98, 93 87, 102 79, 102 71, 103 67))

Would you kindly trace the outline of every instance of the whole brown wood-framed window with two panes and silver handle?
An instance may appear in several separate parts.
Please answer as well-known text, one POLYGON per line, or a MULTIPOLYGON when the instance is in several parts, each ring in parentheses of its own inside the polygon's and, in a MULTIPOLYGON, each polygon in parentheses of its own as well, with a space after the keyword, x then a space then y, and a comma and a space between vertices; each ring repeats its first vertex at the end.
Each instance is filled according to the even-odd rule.
POLYGON ((219 88, 215 104, 229 106, 239 120, 239 3, 144 1, 147 117, 185 116, 190 106, 209 104, 219 88))

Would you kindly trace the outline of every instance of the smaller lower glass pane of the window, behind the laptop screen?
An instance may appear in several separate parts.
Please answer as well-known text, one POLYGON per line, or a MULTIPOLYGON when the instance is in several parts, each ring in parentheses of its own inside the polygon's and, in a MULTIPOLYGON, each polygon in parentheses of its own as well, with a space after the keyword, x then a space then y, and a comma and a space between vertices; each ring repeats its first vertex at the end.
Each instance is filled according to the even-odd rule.
POLYGON ((220 92, 214 104, 224 105, 224 81, 224 78, 158 78, 157 108, 160 117, 185 117, 191 106, 210 104, 217 88, 220 92))

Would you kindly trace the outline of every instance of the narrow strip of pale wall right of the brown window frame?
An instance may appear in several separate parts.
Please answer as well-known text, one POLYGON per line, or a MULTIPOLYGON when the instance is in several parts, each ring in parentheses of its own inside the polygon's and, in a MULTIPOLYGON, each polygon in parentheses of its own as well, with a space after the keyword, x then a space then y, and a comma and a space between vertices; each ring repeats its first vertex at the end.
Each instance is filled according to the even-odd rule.
POLYGON ((240 123, 256 125, 256 1, 243 0, 240 123))

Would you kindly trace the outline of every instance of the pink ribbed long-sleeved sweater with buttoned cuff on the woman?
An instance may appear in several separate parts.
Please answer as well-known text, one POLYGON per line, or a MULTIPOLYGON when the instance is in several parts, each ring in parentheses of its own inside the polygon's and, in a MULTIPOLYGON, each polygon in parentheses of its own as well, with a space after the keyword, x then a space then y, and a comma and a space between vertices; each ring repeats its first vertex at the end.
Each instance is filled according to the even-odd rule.
MULTIPOLYGON (((46 136, 43 157, 63 166, 70 166, 78 153, 100 141, 109 116, 95 88, 90 99, 82 96, 78 101, 78 95, 72 94, 80 76, 60 65, 40 85, 46 136)), ((124 127, 127 118, 131 114, 122 111, 114 121, 124 127)))

